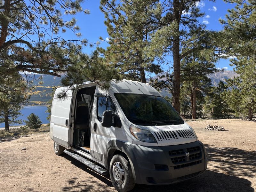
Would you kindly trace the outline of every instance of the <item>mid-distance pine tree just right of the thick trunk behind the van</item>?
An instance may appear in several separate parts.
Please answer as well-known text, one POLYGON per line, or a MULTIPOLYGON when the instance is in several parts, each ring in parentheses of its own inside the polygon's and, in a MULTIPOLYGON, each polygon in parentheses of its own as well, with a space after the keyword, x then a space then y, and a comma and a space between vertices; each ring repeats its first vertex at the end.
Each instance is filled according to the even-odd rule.
POLYGON ((208 75, 217 71, 214 47, 206 42, 208 33, 202 28, 191 30, 188 40, 182 43, 181 53, 186 54, 181 61, 181 86, 190 97, 192 119, 196 119, 197 111, 202 116, 199 106, 202 109, 204 95, 211 87, 208 75), (189 53, 189 50, 194 51, 189 53))

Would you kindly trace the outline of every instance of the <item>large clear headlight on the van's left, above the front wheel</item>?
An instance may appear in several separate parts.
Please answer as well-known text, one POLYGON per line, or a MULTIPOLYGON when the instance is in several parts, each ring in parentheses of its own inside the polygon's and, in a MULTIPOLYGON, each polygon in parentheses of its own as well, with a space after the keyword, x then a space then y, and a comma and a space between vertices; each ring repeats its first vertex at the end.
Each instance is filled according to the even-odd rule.
POLYGON ((132 133, 133 137, 137 140, 149 143, 156 143, 156 139, 153 134, 147 129, 140 129, 135 127, 133 124, 130 125, 130 132, 132 133))

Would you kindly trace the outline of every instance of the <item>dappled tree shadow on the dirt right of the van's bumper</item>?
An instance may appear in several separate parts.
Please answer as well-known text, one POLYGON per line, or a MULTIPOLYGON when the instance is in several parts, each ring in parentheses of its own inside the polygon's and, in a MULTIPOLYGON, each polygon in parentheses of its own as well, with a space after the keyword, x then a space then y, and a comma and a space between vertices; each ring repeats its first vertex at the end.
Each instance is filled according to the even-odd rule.
POLYGON ((223 170, 228 175, 255 177, 256 151, 245 151, 238 148, 214 147, 205 145, 208 161, 217 162, 211 164, 213 171, 223 170))

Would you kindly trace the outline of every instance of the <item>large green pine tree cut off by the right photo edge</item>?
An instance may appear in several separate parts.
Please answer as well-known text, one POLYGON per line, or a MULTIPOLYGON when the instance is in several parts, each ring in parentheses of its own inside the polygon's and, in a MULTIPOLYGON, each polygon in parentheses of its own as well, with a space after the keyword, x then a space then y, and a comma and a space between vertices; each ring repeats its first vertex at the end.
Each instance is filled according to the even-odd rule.
POLYGON ((252 120, 256 100, 256 4, 253 0, 225 0, 236 3, 235 8, 228 10, 220 46, 224 57, 232 57, 231 66, 239 77, 230 79, 226 100, 236 113, 248 113, 252 120))

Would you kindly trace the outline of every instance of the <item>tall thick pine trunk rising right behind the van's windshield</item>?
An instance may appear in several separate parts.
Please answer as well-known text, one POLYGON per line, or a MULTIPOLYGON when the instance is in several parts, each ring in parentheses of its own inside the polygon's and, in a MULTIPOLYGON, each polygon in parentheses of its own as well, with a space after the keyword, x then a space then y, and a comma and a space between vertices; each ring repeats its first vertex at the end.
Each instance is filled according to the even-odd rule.
MULTIPOLYGON (((173 0, 173 20, 178 22, 177 27, 174 29, 177 34, 180 33, 179 28, 179 0, 173 0)), ((173 45, 173 107, 180 113, 180 36, 176 35, 172 41, 173 45)))

